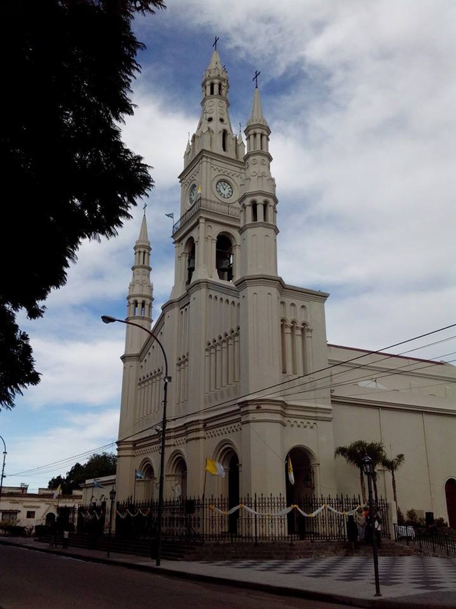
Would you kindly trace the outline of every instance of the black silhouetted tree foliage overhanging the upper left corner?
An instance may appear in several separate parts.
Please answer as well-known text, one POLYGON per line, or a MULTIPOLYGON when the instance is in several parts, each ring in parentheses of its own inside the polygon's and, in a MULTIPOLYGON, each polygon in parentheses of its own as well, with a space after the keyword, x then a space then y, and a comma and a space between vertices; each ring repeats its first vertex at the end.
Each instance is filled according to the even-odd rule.
POLYGON ((133 114, 144 48, 131 21, 162 8, 162 0, 1 3, 0 409, 40 380, 16 312, 41 317, 81 241, 115 236, 153 186, 119 124, 133 114))

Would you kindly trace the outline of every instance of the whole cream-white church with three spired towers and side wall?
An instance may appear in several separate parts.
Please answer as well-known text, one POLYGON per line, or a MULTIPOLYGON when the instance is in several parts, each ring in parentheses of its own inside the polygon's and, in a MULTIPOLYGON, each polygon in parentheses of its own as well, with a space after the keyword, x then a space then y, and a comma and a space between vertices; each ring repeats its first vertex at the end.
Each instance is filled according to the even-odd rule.
MULTIPOLYGON (((396 473, 402 511, 455 519, 456 369, 327 343, 328 294, 277 274, 271 130, 258 88, 246 146, 230 124, 228 90, 214 51, 179 176, 174 286, 153 328, 145 217, 134 246, 126 320, 159 338, 171 377, 165 497, 176 485, 182 496, 201 496, 207 457, 226 476, 208 476, 206 495, 230 495, 232 504, 255 492, 286 495, 288 456, 294 493, 358 494, 358 471, 334 449, 362 439, 405 455, 396 473)), ((164 358, 147 333, 127 325, 122 361, 117 498, 156 498, 164 358)), ((378 485, 392 499, 388 472, 378 485)))

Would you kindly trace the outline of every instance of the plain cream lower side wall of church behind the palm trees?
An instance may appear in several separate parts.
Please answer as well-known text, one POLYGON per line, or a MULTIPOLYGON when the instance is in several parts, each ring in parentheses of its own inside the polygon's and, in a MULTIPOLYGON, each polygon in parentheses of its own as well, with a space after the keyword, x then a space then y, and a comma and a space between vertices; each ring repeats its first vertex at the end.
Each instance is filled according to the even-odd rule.
MULTIPOLYGON (((382 442, 391 457, 403 453, 396 471, 398 504, 402 512, 423 510, 447 520, 445 483, 456 478, 456 414, 410 412, 394 406, 334 404, 334 444, 354 440, 382 442)), ((336 457, 337 487, 342 493, 359 493, 359 472, 336 457)), ((393 498, 391 474, 379 468, 379 493, 393 498)))

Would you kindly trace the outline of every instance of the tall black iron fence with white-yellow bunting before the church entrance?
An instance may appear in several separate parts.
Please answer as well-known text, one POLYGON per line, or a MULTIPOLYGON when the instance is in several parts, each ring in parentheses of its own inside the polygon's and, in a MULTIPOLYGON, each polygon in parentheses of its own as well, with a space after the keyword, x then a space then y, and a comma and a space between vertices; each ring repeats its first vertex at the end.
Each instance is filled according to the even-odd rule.
MULTIPOLYGON (((233 511, 224 497, 176 499, 164 502, 162 535, 168 540, 227 540, 232 543, 345 540, 347 513, 360 504, 359 496, 303 497, 288 510, 290 506, 282 495, 255 494, 241 499, 240 507, 233 511)), ((390 538, 388 504, 384 499, 379 499, 378 509, 381 535, 390 538)), ((116 537, 154 537, 157 512, 157 501, 117 502, 116 537)), ((369 525, 368 521, 368 528, 369 525)))

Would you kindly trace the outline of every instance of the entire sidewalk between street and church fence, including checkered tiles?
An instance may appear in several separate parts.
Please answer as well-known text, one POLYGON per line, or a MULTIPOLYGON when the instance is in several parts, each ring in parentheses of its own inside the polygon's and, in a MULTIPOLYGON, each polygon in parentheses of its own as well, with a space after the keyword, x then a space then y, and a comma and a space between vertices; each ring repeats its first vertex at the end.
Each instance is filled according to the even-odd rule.
POLYGON ((365 557, 300 558, 297 560, 191 562, 69 547, 50 549, 33 538, 1 537, 40 552, 94 561, 154 574, 223 583, 272 594, 326 600, 354 607, 415 609, 456 607, 456 559, 421 556, 379 557, 381 597, 375 597, 373 562, 365 557))

